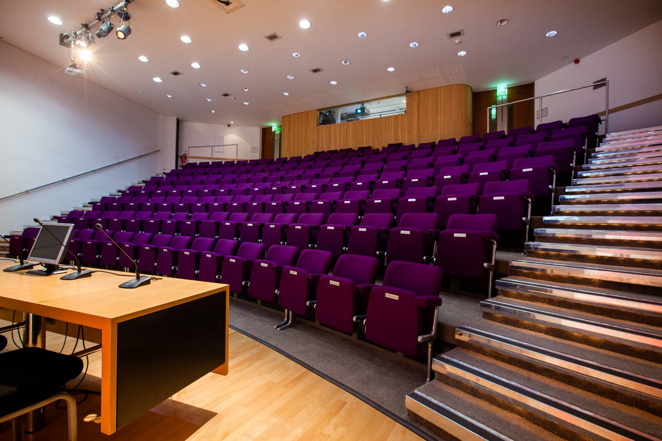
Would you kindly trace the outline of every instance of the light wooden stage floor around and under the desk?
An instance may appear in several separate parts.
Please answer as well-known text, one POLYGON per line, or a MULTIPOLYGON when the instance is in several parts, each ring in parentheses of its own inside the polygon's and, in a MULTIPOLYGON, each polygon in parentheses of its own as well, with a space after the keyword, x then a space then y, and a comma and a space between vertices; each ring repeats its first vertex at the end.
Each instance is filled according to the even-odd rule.
MULTIPOLYGON (((0 321, 0 326, 7 323, 0 321)), ((14 346, 11 335, 5 335, 9 350, 14 346)), ((59 352, 63 339, 48 333, 47 348, 59 352)), ((69 337, 63 352, 71 353, 74 342, 69 337)), ((79 387, 100 390, 100 375, 101 352, 96 352, 89 356, 87 376, 79 387)), ((79 440, 420 439, 340 387, 232 329, 228 376, 207 374, 111 436, 99 431, 98 413, 98 395, 78 405, 79 440)), ((48 426, 23 435, 23 440, 66 440, 66 411, 50 405, 46 415, 48 426)), ((7 423, 3 427, 7 430, 0 433, 0 441, 11 440, 7 423)))

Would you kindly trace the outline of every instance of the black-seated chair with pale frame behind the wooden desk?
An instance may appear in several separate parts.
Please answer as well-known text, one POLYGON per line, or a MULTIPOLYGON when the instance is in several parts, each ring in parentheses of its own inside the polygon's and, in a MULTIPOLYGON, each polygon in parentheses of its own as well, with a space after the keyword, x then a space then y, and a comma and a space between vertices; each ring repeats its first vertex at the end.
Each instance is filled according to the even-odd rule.
MULTIPOLYGON (((7 339, 3 340, 6 346, 7 339)), ((0 347, 4 347, 2 341, 0 347)), ((68 440, 77 441, 76 400, 69 393, 56 392, 83 372, 83 360, 42 348, 23 348, 1 353, 0 366, 0 423, 11 420, 14 440, 21 440, 21 415, 62 399, 67 405, 68 440)))

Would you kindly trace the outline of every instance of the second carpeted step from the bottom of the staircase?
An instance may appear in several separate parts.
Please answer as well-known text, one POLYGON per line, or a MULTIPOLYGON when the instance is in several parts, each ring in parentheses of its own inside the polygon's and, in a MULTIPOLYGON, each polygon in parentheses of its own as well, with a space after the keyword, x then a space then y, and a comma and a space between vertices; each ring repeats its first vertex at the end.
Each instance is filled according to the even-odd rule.
POLYGON ((465 348, 455 348, 436 357, 433 367, 438 372, 437 380, 470 391, 504 409, 515 406, 541 426, 551 422, 601 440, 643 441, 662 436, 660 417, 465 348))

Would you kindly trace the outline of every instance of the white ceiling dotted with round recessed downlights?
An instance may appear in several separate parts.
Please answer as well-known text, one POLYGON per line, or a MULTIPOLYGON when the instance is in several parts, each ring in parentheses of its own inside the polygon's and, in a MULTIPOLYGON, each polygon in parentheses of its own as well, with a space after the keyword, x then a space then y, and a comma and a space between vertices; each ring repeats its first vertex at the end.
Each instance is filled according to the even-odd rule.
MULTIPOLYGON (((97 40, 86 78, 180 120, 267 126, 285 114, 393 95, 404 86, 465 83, 481 91, 530 83, 662 19, 660 0, 243 1, 244 8, 225 14, 210 0, 179 0, 177 9, 165 0, 134 0, 132 34, 123 41, 114 34, 97 40), (447 4, 455 10, 442 14, 447 4), (302 19, 312 26, 300 28, 302 19), (496 26, 498 19, 509 21, 496 26), (455 44, 446 34, 459 29, 465 36, 455 44), (549 30, 558 34, 547 38, 549 30), (361 31, 367 38, 357 37, 361 31), (282 38, 263 38, 271 32, 282 38), (184 44, 182 35, 193 42, 184 44), (410 42, 420 46, 412 49, 410 42), (238 50, 242 43, 248 52, 238 50), (467 55, 458 57, 460 50, 467 55), (150 61, 138 61, 140 55, 150 61), (193 69, 193 61, 202 68, 193 69), (308 71, 314 67, 324 71, 308 71), (173 70, 184 75, 174 77, 173 70)), ((68 51, 58 46, 58 34, 89 22, 111 2, 0 0, 0 37, 66 67, 68 51), (48 22, 52 15, 64 25, 48 22)))

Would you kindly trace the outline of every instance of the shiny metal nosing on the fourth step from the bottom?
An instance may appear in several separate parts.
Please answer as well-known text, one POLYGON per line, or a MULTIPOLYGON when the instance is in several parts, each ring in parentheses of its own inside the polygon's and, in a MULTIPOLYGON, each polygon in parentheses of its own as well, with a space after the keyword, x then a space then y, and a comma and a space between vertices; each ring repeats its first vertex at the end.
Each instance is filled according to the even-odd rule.
POLYGON ((626 341, 632 346, 654 350, 656 352, 662 350, 662 335, 639 331, 638 329, 600 323, 598 321, 572 317, 571 315, 563 315, 494 300, 481 301, 481 309, 497 315, 532 321, 575 333, 581 333, 581 331, 596 333, 608 337, 608 339, 626 341))

